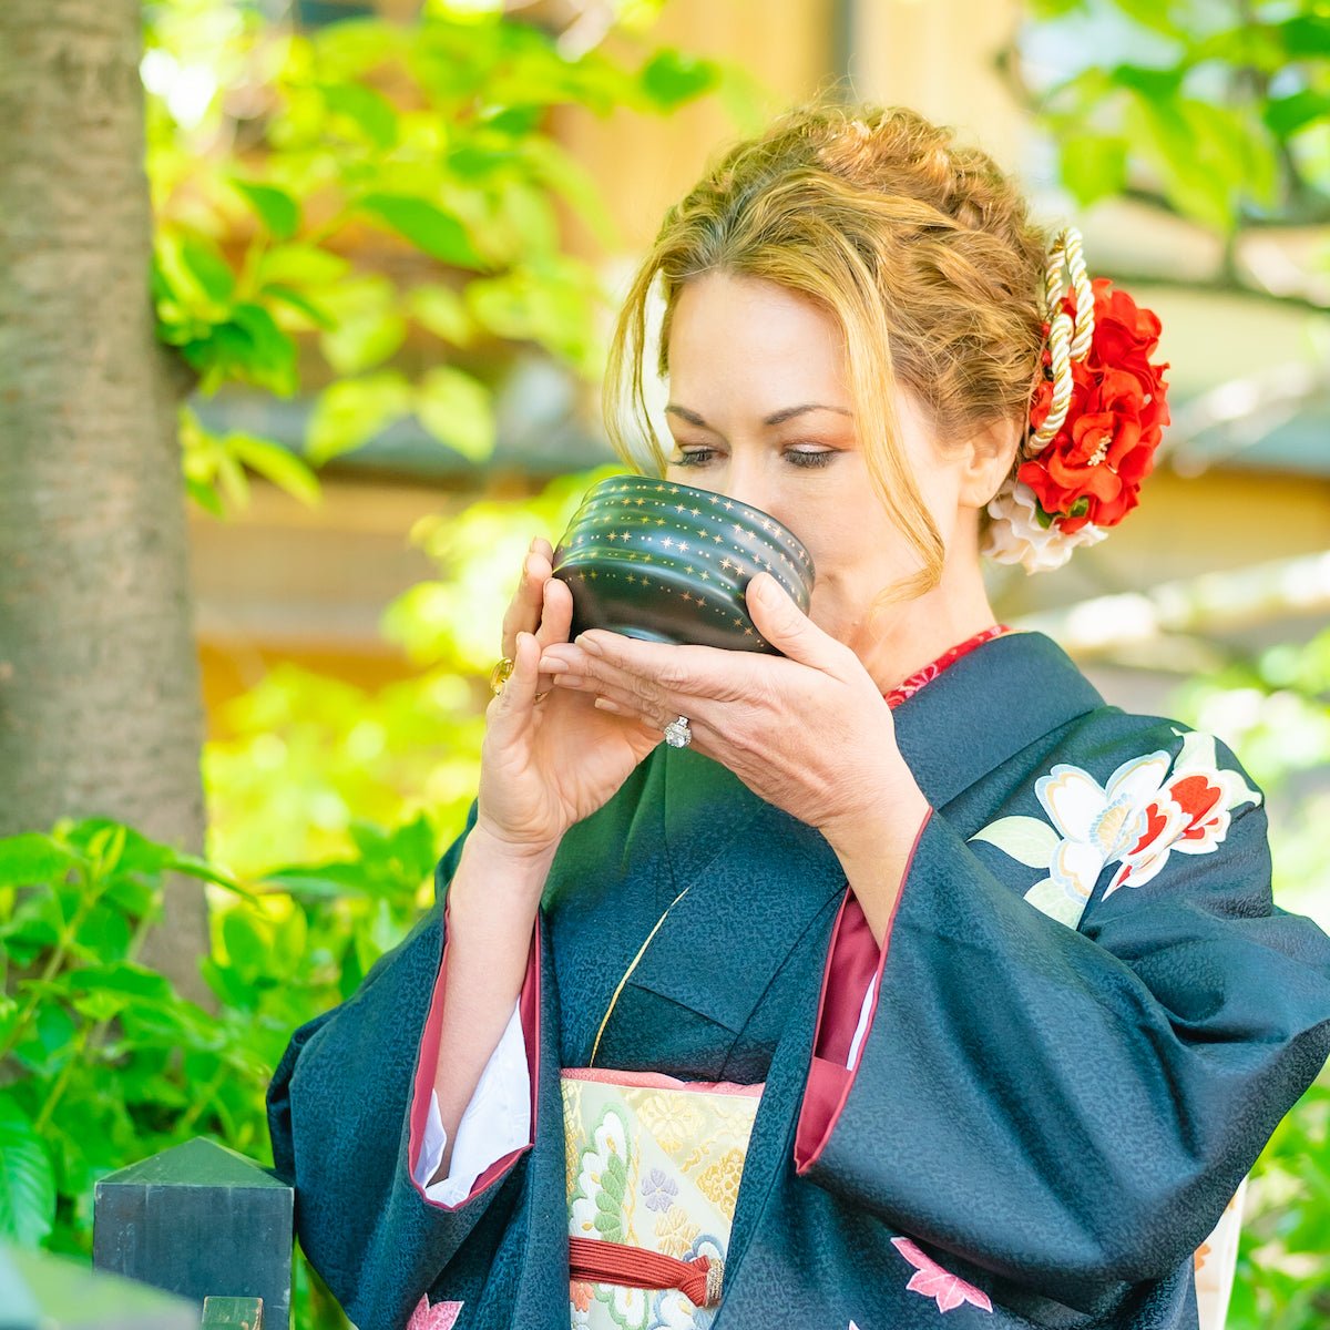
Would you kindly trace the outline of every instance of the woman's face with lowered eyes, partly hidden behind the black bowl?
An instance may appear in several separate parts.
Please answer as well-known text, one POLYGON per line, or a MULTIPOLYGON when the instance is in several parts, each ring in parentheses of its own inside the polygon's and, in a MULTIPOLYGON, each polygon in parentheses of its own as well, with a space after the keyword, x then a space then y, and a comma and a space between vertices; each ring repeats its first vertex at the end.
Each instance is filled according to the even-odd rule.
MULTIPOLYGON (((878 632, 870 629, 870 605, 918 572, 919 561, 864 463, 837 321, 774 282, 709 273, 677 297, 669 367, 669 479, 742 499, 785 523, 817 571, 810 617, 870 664, 892 617, 908 614, 910 605, 916 613, 918 601, 882 612, 878 632)), ((972 450, 939 450, 908 394, 896 400, 896 414, 915 483, 948 551, 944 587, 958 575, 978 581, 978 504, 1001 475, 976 497, 972 450), (966 567, 954 567, 958 560, 966 567)), ((946 595, 944 587, 922 598, 946 595)), ((935 608, 946 617, 944 605, 935 608)))

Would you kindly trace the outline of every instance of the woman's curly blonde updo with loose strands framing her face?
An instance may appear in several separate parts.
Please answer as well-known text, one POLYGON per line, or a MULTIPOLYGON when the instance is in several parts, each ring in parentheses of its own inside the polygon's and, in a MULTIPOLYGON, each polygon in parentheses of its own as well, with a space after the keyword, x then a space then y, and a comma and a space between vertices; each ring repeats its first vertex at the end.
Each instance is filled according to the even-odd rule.
POLYGON ((890 600, 942 576, 892 407, 898 384, 940 440, 1009 423, 1019 439, 1041 372, 1047 239, 987 153, 903 106, 822 96, 730 148, 665 215, 618 317, 605 374, 610 442, 629 466, 645 439, 648 303, 662 283, 657 372, 669 372, 676 299, 704 273, 766 278, 835 317, 845 335, 858 436, 887 511, 920 569, 890 600), (625 400, 626 399, 626 400, 625 400))

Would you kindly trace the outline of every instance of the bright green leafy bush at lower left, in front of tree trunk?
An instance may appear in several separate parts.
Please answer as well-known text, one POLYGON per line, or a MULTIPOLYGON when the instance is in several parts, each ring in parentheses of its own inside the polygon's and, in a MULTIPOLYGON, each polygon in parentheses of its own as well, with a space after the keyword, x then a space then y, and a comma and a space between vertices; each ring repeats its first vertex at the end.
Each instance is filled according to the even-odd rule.
MULTIPOLYGON (((88 1256, 98 1178, 214 1136, 271 1162, 263 1096, 291 1031, 348 996, 432 899, 418 817, 348 827, 354 858, 241 882, 129 827, 0 841, 0 1240, 88 1256), (162 883, 214 892, 217 1011, 137 960, 162 883)), ((298 1323, 343 1323, 302 1261, 298 1323)))

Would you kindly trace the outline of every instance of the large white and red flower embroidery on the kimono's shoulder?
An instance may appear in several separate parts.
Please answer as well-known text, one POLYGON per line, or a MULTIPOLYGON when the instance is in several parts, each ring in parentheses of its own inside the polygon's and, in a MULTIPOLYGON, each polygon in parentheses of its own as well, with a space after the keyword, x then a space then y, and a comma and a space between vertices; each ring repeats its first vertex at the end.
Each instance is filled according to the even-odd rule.
POLYGON ((1228 834, 1232 810, 1261 802, 1237 771, 1220 769, 1210 734, 1182 734, 1172 770, 1169 765, 1168 753, 1148 753, 1124 762, 1100 785, 1079 766, 1059 763, 1035 782, 1052 826, 1040 818, 999 818, 971 841, 1044 868, 1048 876, 1025 899, 1075 928, 1107 864, 1123 867, 1105 898, 1119 887, 1144 886, 1173 850, 1209 854, 1228 834))

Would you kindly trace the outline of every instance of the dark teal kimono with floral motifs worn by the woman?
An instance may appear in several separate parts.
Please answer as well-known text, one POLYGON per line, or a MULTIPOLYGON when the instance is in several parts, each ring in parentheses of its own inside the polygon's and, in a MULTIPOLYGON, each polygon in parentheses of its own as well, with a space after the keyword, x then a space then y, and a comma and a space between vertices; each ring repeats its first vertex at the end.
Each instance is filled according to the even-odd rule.
POLYGON ((567 1330, 560 1067, 686 886, 596 1065, 766 1083, 718 1330, 1196 1325, 1193 1252, 1330 1053, 1330 940, 1271 906, 1260 793, 1037 633, 895 724, 932 811, 880 955, 822 837, 694 751, 656 749, 569 831, 524 990, 532 1144, 455 1208, 408 1166, 450 849, 439 903, 269 1093, 301 1242, 360 1330, 423 1294, 464 1330, 567 1330))

